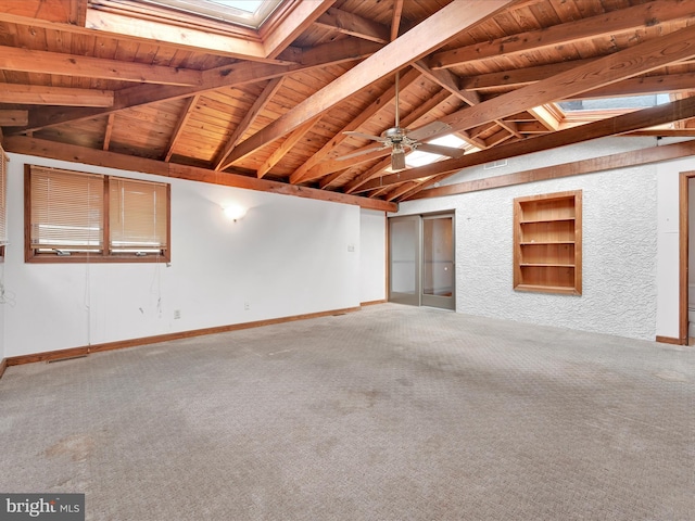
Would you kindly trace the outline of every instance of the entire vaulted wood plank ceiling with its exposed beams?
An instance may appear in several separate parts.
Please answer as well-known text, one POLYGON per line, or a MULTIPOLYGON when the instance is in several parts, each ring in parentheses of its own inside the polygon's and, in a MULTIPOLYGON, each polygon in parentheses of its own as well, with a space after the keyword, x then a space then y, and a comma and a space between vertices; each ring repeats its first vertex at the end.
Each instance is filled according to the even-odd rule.
POLYGON ((20 153, 394 209, 465 166, 602 136, 692 137, 692 3, 288 0, 255 30, 137 0, 9 0, 0 138, 20 153), (391 148, 362 135, 395 126, 396 72, 400 126, 455 134, 465 155, 389 170, 391 148), (555 104, 646 93, 669 104, 583 119, 555 104))

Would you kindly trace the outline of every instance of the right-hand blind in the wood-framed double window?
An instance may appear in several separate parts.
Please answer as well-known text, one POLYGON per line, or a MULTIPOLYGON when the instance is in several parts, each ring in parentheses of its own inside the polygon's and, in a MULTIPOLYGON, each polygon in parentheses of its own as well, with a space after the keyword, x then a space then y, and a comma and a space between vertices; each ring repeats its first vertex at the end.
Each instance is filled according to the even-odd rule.
POLYGON ((167 247, 167 185, 109 179, 110 249, 161 252, 167 247))

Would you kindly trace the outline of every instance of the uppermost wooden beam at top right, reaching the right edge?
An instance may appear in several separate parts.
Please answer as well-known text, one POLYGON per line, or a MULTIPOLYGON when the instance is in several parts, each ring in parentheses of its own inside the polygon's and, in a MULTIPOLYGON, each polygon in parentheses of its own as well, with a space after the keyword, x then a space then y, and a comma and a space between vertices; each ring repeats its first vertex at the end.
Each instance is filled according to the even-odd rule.
POLYGON ((428 61, 432 68, 447 68, 468 62, 515 55, 543 48, 568 45, 637 28, 661 25, 666 22, 688 20, 695 16, 690 2, 655 0, 627 9, 544 27, 527 33, 505 36, 484 43, 435 52, 428 61))

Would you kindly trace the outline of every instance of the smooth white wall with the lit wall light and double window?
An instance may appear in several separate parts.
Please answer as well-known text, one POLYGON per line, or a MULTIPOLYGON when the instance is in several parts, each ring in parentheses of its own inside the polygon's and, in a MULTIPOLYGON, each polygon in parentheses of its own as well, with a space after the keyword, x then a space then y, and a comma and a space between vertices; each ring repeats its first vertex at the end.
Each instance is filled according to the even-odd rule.
MULTIPOLYGON (((383 294, 362 276, 384 255, 359 207, 169 179, 172 263, 25 264, 25 163, 162 181, 163 178, 10 154, 4 356, 356 307, 383 294), (222 206, 249 208, 237 223, 222 206), (350 249, 350 245, 358 247, 350 249), (354 250, 354 251, 349 251, 354 250), (249 309, 244 309, 244 304, 249 309), (174 319, 174 312, 180 319, 174 319)), ((383 214, 382 214, 383 215, 383 214)), ((383 225, 381 224, 381 232, 383 225)), ((382 296, 381 296, 382 297, 382 296)))

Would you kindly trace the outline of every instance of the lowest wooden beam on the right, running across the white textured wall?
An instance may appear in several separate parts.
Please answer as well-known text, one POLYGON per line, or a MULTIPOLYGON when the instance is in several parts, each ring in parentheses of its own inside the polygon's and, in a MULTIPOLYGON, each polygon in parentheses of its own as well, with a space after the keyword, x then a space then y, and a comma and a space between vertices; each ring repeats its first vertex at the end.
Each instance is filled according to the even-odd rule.
POLYGON ((633 166, 647 165, 661 161, 677 160, 695 155, 695 141, 666 144, 662 147, 650 147, 648 149, 621 152, 619 154, 593 157, 590 160, 574 161, 544 168, 517 171, 504 176, 488 177, 472 181, 457 182, 445 187, 430 188, 414 194, 406 200, 441 198, 444 195, 456 195, 460 193, 478 192, 493 188, 511 187, 527 182, 542 181, 546 179, 559 179, 563 177, 579 176, 581 174, 592 174, 616 168, 629 168, 633 166))

